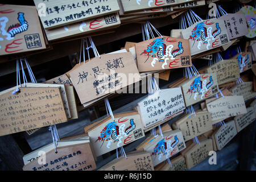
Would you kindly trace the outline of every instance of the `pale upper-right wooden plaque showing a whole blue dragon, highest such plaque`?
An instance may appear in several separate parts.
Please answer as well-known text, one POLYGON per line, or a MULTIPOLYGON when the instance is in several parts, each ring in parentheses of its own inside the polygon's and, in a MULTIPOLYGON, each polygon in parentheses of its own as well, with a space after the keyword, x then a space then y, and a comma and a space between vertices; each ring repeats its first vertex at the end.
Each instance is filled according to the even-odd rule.
POLYGON ((228 32, 222 19, 208 19, 194 23, 181 31, 183 39, 188 39, 191 55, 208 51, 229 43, 228 32))

